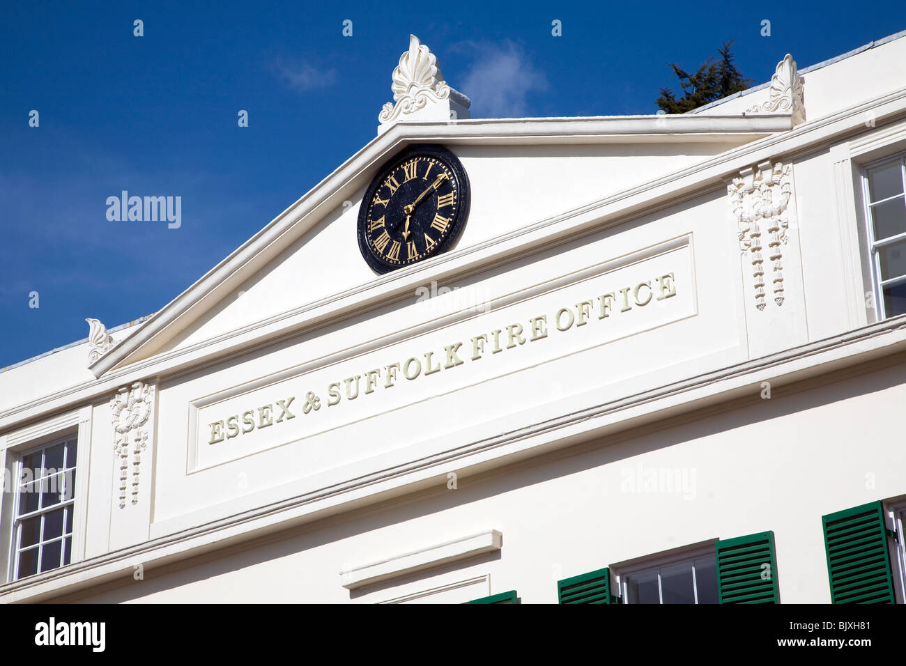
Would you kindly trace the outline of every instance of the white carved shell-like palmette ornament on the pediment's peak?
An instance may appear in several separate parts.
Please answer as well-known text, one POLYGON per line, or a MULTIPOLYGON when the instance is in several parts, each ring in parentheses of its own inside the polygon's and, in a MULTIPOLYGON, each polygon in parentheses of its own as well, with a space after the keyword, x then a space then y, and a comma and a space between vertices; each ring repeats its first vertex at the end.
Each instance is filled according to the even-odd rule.
POLYGON ((393 102, 384 104, 378 120, 395 121, 401 115, 424 109, 428 102, 446 100, 450 87, 443 80, 438 59, 429 48, 409 35, 409 51, 400 56, 400 64, 393 70, 393 102))

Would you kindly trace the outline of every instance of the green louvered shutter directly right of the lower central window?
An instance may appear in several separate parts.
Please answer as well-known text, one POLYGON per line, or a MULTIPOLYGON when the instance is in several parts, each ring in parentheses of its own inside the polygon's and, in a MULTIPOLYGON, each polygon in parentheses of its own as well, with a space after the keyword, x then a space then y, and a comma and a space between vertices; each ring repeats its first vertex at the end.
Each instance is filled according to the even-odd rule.
POLYGON ((773 532, 721 539, 714 549, 719 603, 780 603, 773 532))

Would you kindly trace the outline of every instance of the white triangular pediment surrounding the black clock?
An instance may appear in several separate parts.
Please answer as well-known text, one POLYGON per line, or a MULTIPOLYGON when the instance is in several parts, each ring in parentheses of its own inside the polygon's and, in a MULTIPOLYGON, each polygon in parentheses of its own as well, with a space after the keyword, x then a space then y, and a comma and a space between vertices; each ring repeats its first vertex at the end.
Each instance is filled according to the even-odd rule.
POLYGON ((529 229, 685 178, 788 128, 788 116, 398 123, 94 362, 92 372, 199 347, 221 353, 260 344, 412 294, 415 285, 474 273, 482 262, 499 261, 489 248, 501 241, 518 245, 529 229), (356 241, 363 194, 381 165, 422 143, 445 146, 467 170, 467 223, 446 254, 377 275, 356 241))

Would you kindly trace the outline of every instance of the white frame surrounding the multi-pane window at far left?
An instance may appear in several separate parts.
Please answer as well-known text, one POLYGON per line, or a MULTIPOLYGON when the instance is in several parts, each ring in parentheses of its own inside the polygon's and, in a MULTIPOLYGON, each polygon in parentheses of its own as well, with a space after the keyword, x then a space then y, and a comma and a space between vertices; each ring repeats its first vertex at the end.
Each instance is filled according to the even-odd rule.
POLYGON ((5 479, 0 493, 0 584, 31 582, 43 575, 53 575, 61 568, 81 562, 85 557, 85 536, 88 508, 89 461, 92 443, 92 407, 86 406, 25 428, 0 435, 0 471, 12 478, 5 479), (18 512, 18 481, 22 458, 35 449, 42 449, 53 441, 75 437, 78 444, 75 469, 75 493, 72 516, 72 555, 68 565, 15 579, 13 538, 15 514, 18 512))

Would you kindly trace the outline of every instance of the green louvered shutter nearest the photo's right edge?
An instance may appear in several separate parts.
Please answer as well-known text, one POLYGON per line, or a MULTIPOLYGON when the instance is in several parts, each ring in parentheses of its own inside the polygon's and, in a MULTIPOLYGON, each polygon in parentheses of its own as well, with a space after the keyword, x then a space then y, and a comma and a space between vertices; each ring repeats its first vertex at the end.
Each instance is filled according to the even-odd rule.
POLYGON ((821 517, 832 603, 896 603, 881 502, 821 517))

